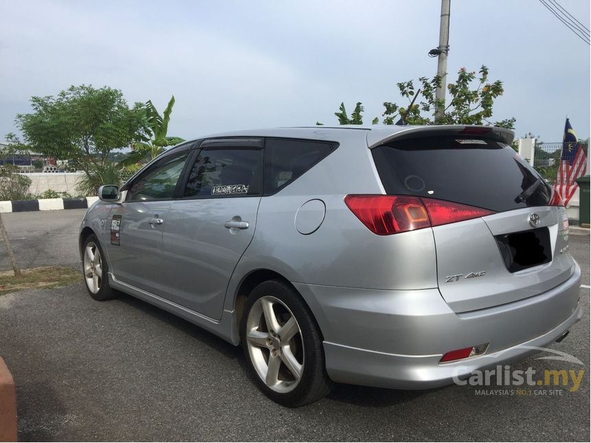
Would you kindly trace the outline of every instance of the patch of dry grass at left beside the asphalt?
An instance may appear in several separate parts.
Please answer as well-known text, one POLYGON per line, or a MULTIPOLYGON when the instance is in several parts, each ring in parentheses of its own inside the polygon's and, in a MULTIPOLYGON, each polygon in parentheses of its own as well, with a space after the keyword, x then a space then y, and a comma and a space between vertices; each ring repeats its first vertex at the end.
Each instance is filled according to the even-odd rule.
POLYGON ((12 271, 0 272, 0 295, 25 289, 55 288, 82 281, 82 274, 69 266, 23 269, 22 277, 12 271))

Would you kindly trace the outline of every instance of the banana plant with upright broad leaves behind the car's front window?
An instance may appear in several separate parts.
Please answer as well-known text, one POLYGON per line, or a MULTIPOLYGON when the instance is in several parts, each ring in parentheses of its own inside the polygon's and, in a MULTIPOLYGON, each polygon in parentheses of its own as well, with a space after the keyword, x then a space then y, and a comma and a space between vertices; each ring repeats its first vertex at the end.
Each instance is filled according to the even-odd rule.
POLYGON ((181 143, 184 139, 180 137, 168 137, 168 123, 170 122, 170 114, 172 113, 172 106, 175 106, 175 96, 172 95, 163 115, 160 115, 156 106, 151 100, 148 100, 145 105, 146 116, 148 121, 148 131, 150 139, 147 141, 137 141, 132 145, 131 154, 124 160, 124 164, 131 165, 134 163, 141 163, 142 161, 150 161, 155 159, 166 146, 174 146, 181 143))

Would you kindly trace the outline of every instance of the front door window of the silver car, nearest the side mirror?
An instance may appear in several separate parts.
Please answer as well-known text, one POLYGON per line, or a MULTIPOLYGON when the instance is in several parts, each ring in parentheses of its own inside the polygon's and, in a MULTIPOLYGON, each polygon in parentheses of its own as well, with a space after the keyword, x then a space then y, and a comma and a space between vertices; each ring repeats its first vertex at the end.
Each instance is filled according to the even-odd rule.
POLYGON ((131 183, 126 201, 168 200, 189 156, 188 150, 166 155, 131 183))

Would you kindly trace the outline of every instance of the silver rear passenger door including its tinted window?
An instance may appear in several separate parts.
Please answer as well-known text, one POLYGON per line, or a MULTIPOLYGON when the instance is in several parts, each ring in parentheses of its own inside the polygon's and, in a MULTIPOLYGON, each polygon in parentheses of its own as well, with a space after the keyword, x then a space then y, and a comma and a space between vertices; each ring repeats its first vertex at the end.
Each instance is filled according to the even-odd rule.
POLYGON ((201 144, 164 225, 170 299, 220 319, 232 272, 250 244, 263 183, 262 139, 201 144))

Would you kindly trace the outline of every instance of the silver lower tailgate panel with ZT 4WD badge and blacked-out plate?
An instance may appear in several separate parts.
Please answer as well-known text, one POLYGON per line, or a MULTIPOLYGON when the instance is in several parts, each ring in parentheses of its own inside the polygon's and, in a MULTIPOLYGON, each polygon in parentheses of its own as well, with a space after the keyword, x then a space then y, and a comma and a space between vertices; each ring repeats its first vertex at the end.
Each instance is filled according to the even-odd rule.
MULTIPOLYGON (((559 207, 535 207, 434 227, 438 284, 456 312, 533 297, 574 271, 559 207), (536 228, 528 223, 537 214, 536 228)), ((565 215, 566 217, 566 215, 565 215)))

